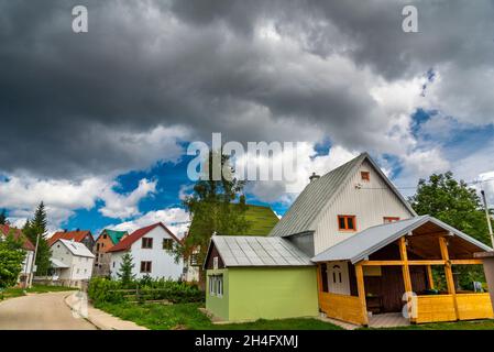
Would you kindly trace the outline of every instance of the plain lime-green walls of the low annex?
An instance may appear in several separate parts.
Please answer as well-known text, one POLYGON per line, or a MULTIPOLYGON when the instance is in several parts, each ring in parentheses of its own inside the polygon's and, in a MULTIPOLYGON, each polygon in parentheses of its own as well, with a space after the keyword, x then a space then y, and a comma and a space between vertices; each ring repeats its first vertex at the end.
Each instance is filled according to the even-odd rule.
MULTIPOLYGON (((222 271, 223 297, 210 297, 207 287, 206 308, 224 320, 318 315, 315 266, 229 267, 222 271)), ((208 271, 208 274, 222 271, 208 271)))

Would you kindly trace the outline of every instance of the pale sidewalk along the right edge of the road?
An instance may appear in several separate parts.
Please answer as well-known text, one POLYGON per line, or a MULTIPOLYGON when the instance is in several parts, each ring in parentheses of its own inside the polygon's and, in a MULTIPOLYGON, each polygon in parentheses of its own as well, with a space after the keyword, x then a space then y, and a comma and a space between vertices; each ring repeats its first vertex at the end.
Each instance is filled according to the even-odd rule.
MULTIPOLYGON (((65 302, 75 311, 80 309, 78 307, 80 305, 80 297, 77 297, 77 293, 65 297, 65 302)), ((87 304, 87 317, 85 318, 100 330, 149 330, 147 328, 138 326, 135 322, 113 317, 108 312, 92 307, 89 302, 87 304)))

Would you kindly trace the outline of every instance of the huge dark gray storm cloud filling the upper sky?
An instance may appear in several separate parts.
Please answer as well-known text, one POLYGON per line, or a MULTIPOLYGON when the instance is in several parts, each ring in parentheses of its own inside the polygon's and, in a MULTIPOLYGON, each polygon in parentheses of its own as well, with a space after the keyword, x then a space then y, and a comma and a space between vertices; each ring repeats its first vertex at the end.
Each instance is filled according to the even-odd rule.
POLYGON ((420 22, 430 34, 415 36, 400 31, 393 3, 0 1, 0 169, 74 177, 145 167, 160 156, 142 139, 158 125, 206 141, 216 131, 239 141, 329 134, 373 147, 388 117, 369 94, 371 72, 353 62, 398 79, 450 57, 490 57, 472 55, 488 2, 468 7, 465 20, 459 2, 432 6, 420 22), (72 32, 75 4, 89 9, 87 34, 72 32), (293 43, 260 41, 266 25, 293 43))

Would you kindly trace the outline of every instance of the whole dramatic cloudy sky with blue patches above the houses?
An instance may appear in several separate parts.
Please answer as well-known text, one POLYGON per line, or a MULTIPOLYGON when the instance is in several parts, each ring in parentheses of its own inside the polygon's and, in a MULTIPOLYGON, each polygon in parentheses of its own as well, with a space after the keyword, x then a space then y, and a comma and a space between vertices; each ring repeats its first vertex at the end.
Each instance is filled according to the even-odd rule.
MULTIPOLYGON (((362 151, 406 195, 435 172, 490 179, 493 19, 490 0, 0 0, 0 207, 21 224, 44 200, 52 230, 183 231, 185 150, 212 132, 304 142, 298 190, 362 151)), ((283 215, 283 186, 249 200, 283 215)))

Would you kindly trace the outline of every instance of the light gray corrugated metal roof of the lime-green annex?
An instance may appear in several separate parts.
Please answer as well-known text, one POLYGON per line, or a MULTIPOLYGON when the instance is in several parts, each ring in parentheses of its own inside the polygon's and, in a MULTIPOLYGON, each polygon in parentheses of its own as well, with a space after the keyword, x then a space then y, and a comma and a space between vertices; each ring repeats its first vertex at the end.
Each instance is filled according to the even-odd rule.
POLYGON ((224 266, 307 266, 310 257, 282 238, 213 235, 224 266))

